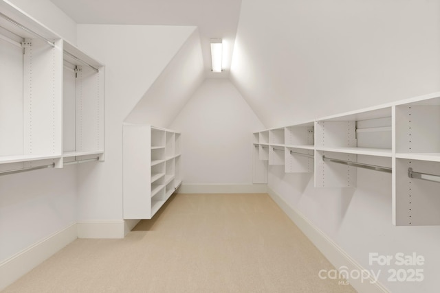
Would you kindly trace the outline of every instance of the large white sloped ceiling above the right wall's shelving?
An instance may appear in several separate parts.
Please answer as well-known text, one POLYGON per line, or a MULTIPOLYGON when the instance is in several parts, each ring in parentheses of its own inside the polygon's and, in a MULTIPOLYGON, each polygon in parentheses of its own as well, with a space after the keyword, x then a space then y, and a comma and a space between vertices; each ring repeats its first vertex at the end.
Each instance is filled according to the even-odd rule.
POLYGON ((439 91, 439 5, 243 0, 230 78, 267 128, 439 91))

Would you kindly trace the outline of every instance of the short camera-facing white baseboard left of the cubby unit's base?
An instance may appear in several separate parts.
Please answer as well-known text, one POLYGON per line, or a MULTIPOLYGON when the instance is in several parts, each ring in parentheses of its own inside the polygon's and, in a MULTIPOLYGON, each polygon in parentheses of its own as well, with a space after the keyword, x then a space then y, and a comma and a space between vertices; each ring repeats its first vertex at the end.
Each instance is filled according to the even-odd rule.
POLYGON ((124 238, 126 229, 124 220, 78 222, 76 226, 78 238, 89 239, 124 238))

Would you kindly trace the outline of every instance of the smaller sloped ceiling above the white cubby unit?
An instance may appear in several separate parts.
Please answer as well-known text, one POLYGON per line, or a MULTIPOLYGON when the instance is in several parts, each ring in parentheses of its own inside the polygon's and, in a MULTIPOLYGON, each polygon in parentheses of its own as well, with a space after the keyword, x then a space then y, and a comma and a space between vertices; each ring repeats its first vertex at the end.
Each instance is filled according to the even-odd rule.
POLYGON ((200 38, 195 30, 125 122, 169 127, 204 78, 200 38))

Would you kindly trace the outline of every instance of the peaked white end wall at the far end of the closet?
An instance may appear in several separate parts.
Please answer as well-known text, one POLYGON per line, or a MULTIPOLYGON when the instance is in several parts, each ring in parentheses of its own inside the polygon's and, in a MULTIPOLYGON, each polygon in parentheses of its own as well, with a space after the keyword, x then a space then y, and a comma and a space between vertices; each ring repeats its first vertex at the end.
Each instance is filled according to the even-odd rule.
POLYGON ((170 125, 182 133, 184 184, 251 184, 252 132, 262 127, 229 80, 206 79, 170 125))

